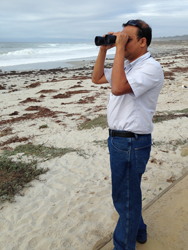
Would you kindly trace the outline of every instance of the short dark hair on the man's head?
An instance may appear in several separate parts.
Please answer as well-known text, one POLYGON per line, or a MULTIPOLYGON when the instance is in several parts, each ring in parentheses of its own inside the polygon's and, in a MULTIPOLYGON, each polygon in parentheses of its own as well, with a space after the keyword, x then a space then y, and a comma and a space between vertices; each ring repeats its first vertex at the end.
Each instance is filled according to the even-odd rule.
POLYGON ((139 28, 137 29, 138 40, 140 40, 142 37, 145 37, 147 40, 147 46, 149 46, 151 43, 151 39, 152 39, 151 27, 140 19, 137 19, 136 21, 137 23, 139 23, 139 25, 142 27, 142 30, 144 31, 144 34, 143 34, 143 31, 141 31, 139 28))

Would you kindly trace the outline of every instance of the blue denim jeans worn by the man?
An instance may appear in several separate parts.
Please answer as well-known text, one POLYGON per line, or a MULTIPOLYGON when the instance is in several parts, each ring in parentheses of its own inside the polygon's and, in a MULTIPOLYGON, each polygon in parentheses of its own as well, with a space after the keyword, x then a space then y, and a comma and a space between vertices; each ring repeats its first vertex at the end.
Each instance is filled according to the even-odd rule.
POLYGON ((112 199, 119 214, 114 250, 135 250, 136 240, 146 240, 143 222, 141 178, 151 151, 151 134, 108 138, 112 175, 112 199))

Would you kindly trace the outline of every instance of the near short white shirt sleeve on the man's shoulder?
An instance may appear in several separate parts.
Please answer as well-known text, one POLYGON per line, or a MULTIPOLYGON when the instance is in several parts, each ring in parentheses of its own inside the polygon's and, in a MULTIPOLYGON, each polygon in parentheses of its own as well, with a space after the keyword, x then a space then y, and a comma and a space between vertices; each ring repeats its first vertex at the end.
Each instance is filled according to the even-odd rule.
POLYGON ((160 64, 147 63, 126 75, 135 97, 139 97, 151 88, 163 82, 163 71, 160 64))

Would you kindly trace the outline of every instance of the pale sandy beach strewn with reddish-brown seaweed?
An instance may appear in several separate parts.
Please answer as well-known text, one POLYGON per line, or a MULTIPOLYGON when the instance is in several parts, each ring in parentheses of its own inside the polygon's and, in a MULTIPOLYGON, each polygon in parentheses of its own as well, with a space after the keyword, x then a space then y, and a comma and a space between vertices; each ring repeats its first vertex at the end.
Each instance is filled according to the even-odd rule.
MULTIPOLYGON (((143 206, 188 171, 188 42, 152 46, 165 82, 143 175, 143 206)), ((106 67, 112 64, 106 60, 106 67)), ((0 203, 1 250, 91 250, 113 232, 105 123, 110 87, 92 83, 93 66, 82 61, 74 68, 0 72, 0 133, 10 131, 0 136, 0 157, 28 143, 69 149, 47 161, 33 156, 49 171, 15 202, 0 203)))

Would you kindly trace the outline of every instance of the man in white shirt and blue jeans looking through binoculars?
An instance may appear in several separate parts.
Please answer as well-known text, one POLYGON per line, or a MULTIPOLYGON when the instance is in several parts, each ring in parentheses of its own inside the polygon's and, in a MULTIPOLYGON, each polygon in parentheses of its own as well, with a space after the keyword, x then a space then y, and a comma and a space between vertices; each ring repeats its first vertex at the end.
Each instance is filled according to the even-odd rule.
POLYGON ((115 45, 100 47, 92 81, 111 84, 108 147, 112 198, 119 214, 114 250, 135 250, 136 241, 147 241, 140 186, 150 156, 152 118, 164 76, 160 64, 147 51, 152 34, 149 25, 130 20, 123 27, 122 32, 109 33, 116 36, 115 45), (113 67, 104 70, 106 52, 114 46, 113 67))

